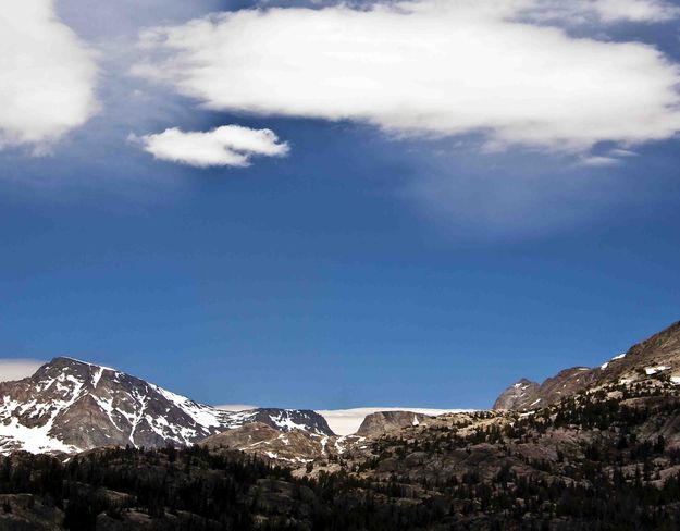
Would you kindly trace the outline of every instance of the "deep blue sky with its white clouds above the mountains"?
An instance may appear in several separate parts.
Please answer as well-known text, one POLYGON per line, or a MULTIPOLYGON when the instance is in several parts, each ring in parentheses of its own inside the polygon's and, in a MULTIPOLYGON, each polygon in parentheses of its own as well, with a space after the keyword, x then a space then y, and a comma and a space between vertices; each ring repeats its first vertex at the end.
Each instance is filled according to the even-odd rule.
POLYGON ((677 320, 678 12, 522 2, 27 0, 0 27, 63 69, 0 37, 0 356, 486 407, 677 320))

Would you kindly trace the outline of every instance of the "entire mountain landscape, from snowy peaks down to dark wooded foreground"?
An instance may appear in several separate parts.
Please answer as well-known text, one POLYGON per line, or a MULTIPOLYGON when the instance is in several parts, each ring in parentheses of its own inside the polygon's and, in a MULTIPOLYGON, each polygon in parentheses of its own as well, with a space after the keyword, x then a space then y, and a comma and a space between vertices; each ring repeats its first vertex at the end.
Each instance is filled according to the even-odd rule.
POLYGON ((680 529, 680 323, 494 409, 379 411, 342 436, 69 358, 0 396, 0 529, 680 529))

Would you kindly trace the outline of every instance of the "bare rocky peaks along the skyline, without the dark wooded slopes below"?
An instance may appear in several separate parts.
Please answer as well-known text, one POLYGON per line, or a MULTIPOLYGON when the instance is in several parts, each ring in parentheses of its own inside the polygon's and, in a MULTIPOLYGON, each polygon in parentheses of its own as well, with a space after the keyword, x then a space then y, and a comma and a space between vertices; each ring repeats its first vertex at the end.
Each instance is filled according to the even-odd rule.
MULTIPOLYGON (((599 367, 566 369, 543 383, 521 379, 500 394, 493 410, 535 410, 583 391, 606 384, 633 385, 651 376, 680 383, 680 323, 599 367)), ((367 439, 426 424, 433 418, 411 411, 376 411, 364 418, 356 434, 337 436, 312 410, 225 411, 115 369, 67 357, 52 359, 29 378, 0 382, 0 397, 3 454, 22 449, 74 454, 104 446, 187 446, 206 441, 306 462, 329 452, 342 453, 367 439), (290 442, 295 440, 297 444, 290 442), (298 452, 292 453, 292 447, 298 452)))

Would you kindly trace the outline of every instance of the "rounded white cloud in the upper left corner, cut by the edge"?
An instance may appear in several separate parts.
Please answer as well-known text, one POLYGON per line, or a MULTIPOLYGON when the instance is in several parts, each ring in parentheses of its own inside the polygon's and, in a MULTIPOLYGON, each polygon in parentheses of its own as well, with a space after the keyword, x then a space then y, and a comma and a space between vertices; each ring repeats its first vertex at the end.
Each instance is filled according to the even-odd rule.
POLYGON ((0 148, 45 149, 97 110, 92 54, 50 0, 4 2, 0 10, 0 148))

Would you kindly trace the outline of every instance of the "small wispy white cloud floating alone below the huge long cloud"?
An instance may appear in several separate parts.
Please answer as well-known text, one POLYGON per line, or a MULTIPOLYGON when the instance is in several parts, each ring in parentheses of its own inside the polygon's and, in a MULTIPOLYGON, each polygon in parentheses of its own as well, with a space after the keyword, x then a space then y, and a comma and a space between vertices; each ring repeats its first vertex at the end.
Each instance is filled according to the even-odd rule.
POLYGON ((156 159, 197 168, 247 166, 254 156, 283 157, 288 145, 270 129, 223 125, 209 132, 183 132, 177 127, 154 135, 131 136, 156 159))

